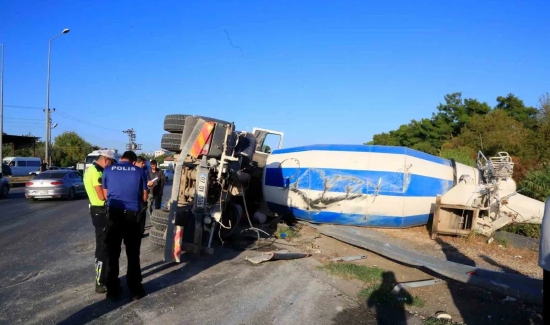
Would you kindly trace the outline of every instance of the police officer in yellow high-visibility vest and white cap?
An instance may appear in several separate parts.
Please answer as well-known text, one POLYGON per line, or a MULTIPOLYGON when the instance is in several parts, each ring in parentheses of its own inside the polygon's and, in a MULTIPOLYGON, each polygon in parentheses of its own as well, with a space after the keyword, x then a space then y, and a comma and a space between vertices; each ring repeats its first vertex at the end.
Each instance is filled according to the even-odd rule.
POLYGON ((96 228, 96 293, 104 294, 107 292, 107 246, 105 243, 107 227, 107 206, 105 205, 105 196, 101 186, 103 178, 103 169, 116 163, 114 153, 111 150, 102 150, 100 156, 84 173, 84 187, 90 200, 90 214, 92 224, 96 228))

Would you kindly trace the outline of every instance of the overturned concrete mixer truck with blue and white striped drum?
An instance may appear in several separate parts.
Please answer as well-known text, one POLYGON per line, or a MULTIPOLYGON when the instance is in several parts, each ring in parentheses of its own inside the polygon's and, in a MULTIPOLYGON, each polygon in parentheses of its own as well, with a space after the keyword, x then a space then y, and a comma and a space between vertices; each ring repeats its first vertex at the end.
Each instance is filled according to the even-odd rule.
MULTIPOLYGON (((406 147, 311 145, 282 148, 283 133, 238 132, 223 120, 167 115, 162 147, 179 153, 172 197, 151 216, 165 260, 211 253, 241 216, 261 212, 312 223, 491 235, 509 223, 540 224, 544 203, 516 191, 505 152, 477 167, 406 147), (276 136, 272 148, 266 138, 276 136), (273 150, 274 149, 274 150, 273 150)), ((252 227, 252 225, 250 226, 252 227)))

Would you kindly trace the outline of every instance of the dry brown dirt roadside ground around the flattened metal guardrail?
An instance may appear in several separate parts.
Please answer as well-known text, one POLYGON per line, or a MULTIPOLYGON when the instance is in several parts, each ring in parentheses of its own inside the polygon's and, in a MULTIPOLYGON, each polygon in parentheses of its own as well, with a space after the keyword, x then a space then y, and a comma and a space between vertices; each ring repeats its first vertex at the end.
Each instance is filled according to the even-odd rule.
MULTIPOLYGON (((524 304, 521 301, 510 301, 512 299, 507 299, 506 296, 456 282, 434 273, 426 273, 430 271, 424 272, 416 267, 409 267, 387 260, 373 252, 348 245, 328 236, 320 235, 314 228, 307 227, 306 225, 299 225, 298 228, 298 237, 290 240, 290 243, 300 246, 293 248, 310 252, 313 258, 321 263, 327 263, 333 257, 366 254, 367 258, 351 263, 367 267, 377 266, 391 271, 395 275, 397 282, 433 278, 443 279, 444 281, 441 284, 407 289, 410 295, 419 296, 424 302, 424 306, 406 306, 405 309, 410 314, 422 319, 434 317, 437 312, 444 311, 453 317, 453 322, 469 325, 542 324, 542 309, 538 306, 524 304), (313 240, 300 241, 300 239, 315 235, 319 237, 313 240)), ((536 265, 536 252, 511 247, 499 247, 498 243, 489 245, 485 241, 482 241, 481 238, 456 239, 449 236, 441 236, 441 241, 434 241, 428 236, 427 230, 424 231, 420 228, 422 227, 411 228, 405 231, 403 229, 398 231, 380 229, 379 231, 389 236, 395 236, 395 239, 401 245, 408 245, 405 247, 423 254, 430 253, 430 255, 445 258, 445 255, 452 256, 449 252, 445 253, 445 250, 453 251, 453 249, 456 249, 461 254, 466 255, 467 258, 471 258, 478 267, 491 266, 490 268, 492 269, 504 269, 505 271, 519 272, 530 276, 538 275, 538 271, 532 267, 533 263, 536 265), (514 258, 517 255, 521 255, 522 257, 514 258)), ((339 288, 346 295, 356 297, 360 300, 358 294, 361 289, 365 288, 365 284, 357 280, 346 282, 348 284, 340 284, 339 288)), ((364 304, 364 308, 367 308, 366 304, 364 304)))

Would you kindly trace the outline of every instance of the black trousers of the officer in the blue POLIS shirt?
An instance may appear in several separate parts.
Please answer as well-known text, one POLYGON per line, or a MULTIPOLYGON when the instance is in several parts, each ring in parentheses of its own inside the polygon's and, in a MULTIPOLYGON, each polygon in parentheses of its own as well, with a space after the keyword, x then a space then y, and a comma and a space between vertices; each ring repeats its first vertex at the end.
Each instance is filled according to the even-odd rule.
POLYGON ((139 293, 143 290, 141 281, 140 246, 142 227, 140 213, 109 208, 107 227, 107 250, 109 252, 107 290, 116 291, 120 287, 119 258, 122 251, 121 245, 124 241, 126 257, 128 259, 128 271, 126 272, 126 283, 130 293, 139 293))

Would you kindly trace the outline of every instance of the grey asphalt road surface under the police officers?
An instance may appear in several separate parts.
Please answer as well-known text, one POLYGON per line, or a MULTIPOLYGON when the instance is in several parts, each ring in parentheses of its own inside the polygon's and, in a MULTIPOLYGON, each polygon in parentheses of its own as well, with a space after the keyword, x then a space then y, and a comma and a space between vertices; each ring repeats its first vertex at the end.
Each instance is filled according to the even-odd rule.
MULTIPOLYGON (((375 323, 315 276, 312 258, 251 265, 244 257, 258 252, 219 247, 212 256, 186 254, 183 263, 164 263, 163 251, 146 238, 147 296, 132 302, 124 288, 122 300, 106 300, 94 293, 86 198, 32 202, 23 190, 0 200, 0 324, 375 323)), ((125 284, 125 257, 120 265, 125 284)))

